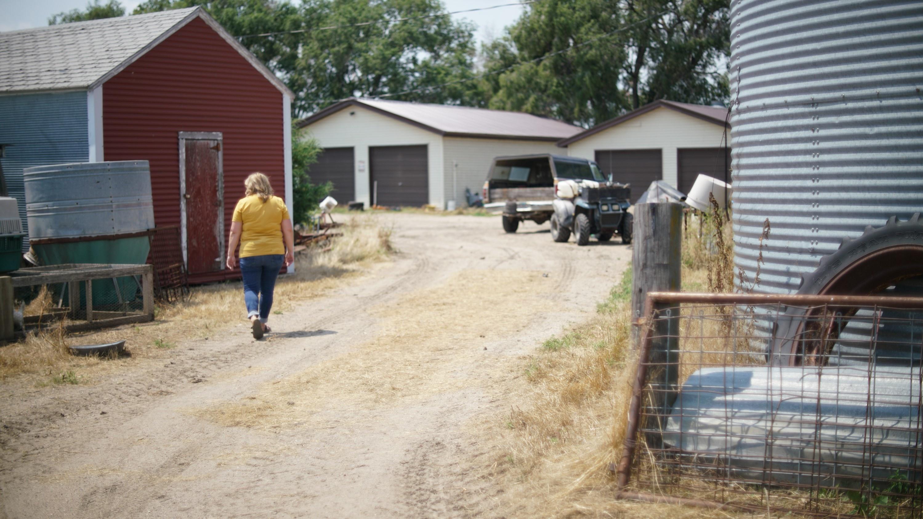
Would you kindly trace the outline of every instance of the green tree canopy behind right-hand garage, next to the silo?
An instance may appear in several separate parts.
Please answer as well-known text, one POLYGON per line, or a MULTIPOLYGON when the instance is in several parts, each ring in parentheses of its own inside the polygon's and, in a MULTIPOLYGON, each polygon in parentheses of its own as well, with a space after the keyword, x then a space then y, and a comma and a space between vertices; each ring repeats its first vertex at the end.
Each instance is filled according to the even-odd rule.
POLYGON ((489 106, 590 126, 658 99, 711 103, 727 97, 728 38, 723 0, 545 0, 485 46, 488 72, 511 67, 486 78, 489 106))

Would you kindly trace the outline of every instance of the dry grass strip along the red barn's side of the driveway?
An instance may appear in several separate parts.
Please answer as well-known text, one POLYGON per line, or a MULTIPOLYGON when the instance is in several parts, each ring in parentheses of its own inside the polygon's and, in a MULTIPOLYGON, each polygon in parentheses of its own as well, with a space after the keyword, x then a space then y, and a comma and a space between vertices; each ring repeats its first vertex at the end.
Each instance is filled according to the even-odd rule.
MULTIPOLYGON (((314 247, 298 255, 293 275, 282 276, 276 285, 274 312, 284 312, 300 300, 320 296, 390 251, 390 228, 371 214, 352 216, 339 229, 343 236, 330 242, 330 250, 314 247)), ((326 247, 326 246, 325 246, 326 247)), ((50 297, 30 303, 26 315, 46 310, 50 297)), ((14 375, 60 378, 72 372, 77 380, 98 375, 107 368, 135 362, 138 358, 165 355, 188 339, 203 339, 246 321, 240 282, 192 287, 189 298, 169 305, 159 303, 156 320, 99 332, 68 335, 60 328, 30 334, 25 341, 0 346, 0 380, 14 375), (98 357, 72 356, 68 344, 104 344, 126 340, 131 358, 115 362, 98 357)), ((68 379, 73 380, 73 379, 68 379)))

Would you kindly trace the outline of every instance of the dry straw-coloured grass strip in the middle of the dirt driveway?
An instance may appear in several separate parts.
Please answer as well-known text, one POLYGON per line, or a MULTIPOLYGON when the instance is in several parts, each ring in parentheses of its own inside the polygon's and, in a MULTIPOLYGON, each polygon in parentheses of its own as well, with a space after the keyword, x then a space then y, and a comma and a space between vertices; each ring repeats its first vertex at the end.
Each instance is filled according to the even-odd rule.
POLYGON ((371 308, 370 317, 378 318, 371 341, 272 380, 238 401, 190 413, 226 427, 288 428, 317 424, 324 412, 371 409, 462 389, 477 381, 445 374, 483 358, 485 339, 521 330, 534 312, 548 307, 552 284, 542 272, 457 272, 444 284, 371 308), (490 286, 491 304, 483 304, 472 286, 490 286))

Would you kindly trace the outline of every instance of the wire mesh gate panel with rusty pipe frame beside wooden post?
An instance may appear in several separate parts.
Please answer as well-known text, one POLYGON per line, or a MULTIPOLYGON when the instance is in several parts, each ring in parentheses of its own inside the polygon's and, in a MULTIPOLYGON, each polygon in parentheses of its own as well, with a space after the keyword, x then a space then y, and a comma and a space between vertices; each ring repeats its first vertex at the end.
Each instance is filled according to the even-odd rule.
POLYGON ((923 298, 763 297, 767 351, 746 296, 683 296, 648 307, 622 497, 923 514, 923 298))

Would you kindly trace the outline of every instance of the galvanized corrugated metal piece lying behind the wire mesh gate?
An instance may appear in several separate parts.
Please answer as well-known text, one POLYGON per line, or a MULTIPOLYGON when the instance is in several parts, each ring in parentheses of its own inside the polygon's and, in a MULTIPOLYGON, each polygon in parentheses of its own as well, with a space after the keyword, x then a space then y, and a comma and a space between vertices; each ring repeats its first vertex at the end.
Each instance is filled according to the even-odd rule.
POLYGON ((918 480, 919 394, 919 368, 702 368, 683 384, 663 440, 749 480, 918 480))

